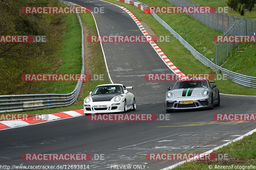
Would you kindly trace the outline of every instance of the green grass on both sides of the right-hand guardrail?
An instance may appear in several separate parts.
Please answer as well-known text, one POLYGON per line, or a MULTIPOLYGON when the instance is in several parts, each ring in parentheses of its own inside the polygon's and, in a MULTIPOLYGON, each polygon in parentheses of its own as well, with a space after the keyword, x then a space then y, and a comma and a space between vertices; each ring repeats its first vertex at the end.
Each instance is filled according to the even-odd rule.
MULTIPOLYGON (((129 9, 135 16, 138 18, 140 22, 145 22, 150 28, 154 31, 154 33, 159 35, 171 35, 171 33, 166 30, 160 23, 156 21, 155 18, 151 14, 145 14, 143 11, 138 9, 135 6, 130 4, 125 4, 115 0, 105 0, 107 2, 111 2, 113 4, 118 4, 124 6, 129 9)), ((165 0, 140 0, 142 3, 146 3, 151 6, 168 6, 168 3, 165 0), (155 5, 153 5, 155 4, 155 5)), ((217 35, 220 32, 213 30, 212 28, 196 21, 195 19, 189 17, 186 14, 172 14, 168 16, 160 15, 165 22, 167 22, 172 28, 180 33, 180 35, 186 39, 187 41, 193 41, 193 43, 197 44, 197 47, 202 47, 205 44, 213 45, 210 41, 214 35, 217 35), (175 16, 172 16, 175 15, 175 16), (170 24, 171 23, 171 24, 170 24), (196 26, 190 25, 188 23, 196 24, 196 26), (183 27, 184 26, 184 27, 183 27), (191 29, 190 29, 191 28, 191 29), (182 30, 182 32, 181 32, 182 30), (198 35, 198 34, 202 35, 198 35), (194 36, 198 35, 198 36, 194 36)), ((171 35, 172 36, 172 35, 171 35)), ((188 41, 188 42, 189 42, 188 41)), ((189 42, 190 43, 190 42, 189 42)), ((211 73, 214 74, 211 68, 204 66, 199 60, 197 60, 175 37, 172 36, 171 42, 157 42, 156 43, 165 55, 185 74, 203 74, 203 73, 211 73)), ((192 45, 192 44, 191 44, 192 45)), ((193 45, 192 45, 193 46, 193 45)), ((195 48, 195 46, 193 46, 195 48)), ((212 48, 213 49, 213 48, 212 48)), ((197 49, 198 50, 198 49, 197 49)), ((215 50, 215 49, 214 49, 215 50)), ((198 50, 200 52, 200 50, 198 50)), ((209 53, 207 51, 206 53, 209 53)), ((215 55, 215 54, 214 54, 215 55)), ((226 94, 235 94, 235 95, 256 95, 256 90, 254 88, 245 87, 239 85, 231 80, 217 80, 215 81, 217 87, 220 89, 220 93, 226 94)))

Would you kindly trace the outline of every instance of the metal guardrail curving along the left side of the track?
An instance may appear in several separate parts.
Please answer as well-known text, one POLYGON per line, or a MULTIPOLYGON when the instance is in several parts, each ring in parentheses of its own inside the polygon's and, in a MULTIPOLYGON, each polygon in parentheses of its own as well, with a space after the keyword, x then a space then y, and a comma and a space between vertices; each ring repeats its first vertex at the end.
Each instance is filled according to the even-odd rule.
MULTIPOLYGON (((60 3, 74 6, 66 1, 59 0, 60 3)), ((76 12, 82 32, 82 70, 84 74, 84 32, 83 25, 78 12, 76 12)), ((31 95, 1 95, 0 113, 11 111, 23 111, 34 109, 45 109, 53 107, 68 106, 74 103, 79 95, 83 81, 77 81, 76 88, 68 94, 31 94, 31 95)))

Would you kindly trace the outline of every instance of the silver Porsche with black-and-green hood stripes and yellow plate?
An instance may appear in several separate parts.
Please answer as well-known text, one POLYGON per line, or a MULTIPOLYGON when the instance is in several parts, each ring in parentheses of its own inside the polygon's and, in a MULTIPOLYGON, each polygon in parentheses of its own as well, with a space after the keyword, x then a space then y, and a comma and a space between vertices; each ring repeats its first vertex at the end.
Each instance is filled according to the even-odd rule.
POLYGON ((183 78, 165 95, 165 110, 201 109, 220 106, 220 92, 214 81, 206 78, 183 78))

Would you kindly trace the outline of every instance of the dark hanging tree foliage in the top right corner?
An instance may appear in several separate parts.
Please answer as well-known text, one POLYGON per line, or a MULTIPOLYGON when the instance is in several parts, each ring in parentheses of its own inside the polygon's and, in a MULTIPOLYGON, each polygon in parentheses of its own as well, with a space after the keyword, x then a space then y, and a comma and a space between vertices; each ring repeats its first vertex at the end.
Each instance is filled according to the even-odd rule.
POLYGON ((256 4, 256 0, 228 0, 227 4, 232 10, 244 16, 245 10, 252 11, 252 8, 254 8, 254 5, 256 4))

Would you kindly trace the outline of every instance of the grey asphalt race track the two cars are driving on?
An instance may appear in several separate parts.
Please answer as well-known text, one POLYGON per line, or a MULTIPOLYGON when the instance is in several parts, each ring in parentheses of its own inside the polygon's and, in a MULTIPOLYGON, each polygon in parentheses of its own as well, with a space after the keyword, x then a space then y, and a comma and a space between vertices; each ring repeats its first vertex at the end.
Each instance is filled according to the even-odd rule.
MULTIPOLYGON (((99 0, 70 1, 106 8, 106 13, 94 14, 100 35, 143 35, 132 18, 116 5, 99 0)), ((137 110, 127 113, 152 113, 164 120, 89 121, 79 116, 2 130, 0 165, 89 165, 90 169, 107 170, 114 169, 111 165, 140 165, 131 169, 160 170, 180 160, 147 160, 147 153, 202 153, 255 129, 254 121, 213 120, 216 113, 255 113, 255 97, 220 95, 221 106, 213 110, 166 113, 165 93, 175 81, 144 79, 148 73, 172 73, 151 45, 102 46, 112 81, 134 86, 130 91, 135 94, 137 110), (93 159, 26 161, 22 159, 25 153, 90 153, 93 159), (100 154, 103 158, 98 160, 100 154)))

